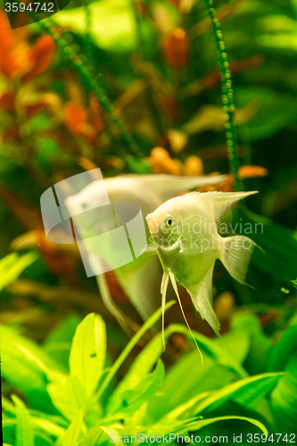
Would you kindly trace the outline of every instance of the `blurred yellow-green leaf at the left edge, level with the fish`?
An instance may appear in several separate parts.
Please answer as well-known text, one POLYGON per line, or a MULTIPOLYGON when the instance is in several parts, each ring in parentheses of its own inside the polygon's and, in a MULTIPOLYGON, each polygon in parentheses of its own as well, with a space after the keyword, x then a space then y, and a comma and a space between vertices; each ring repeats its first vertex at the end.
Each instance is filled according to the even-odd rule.
POLYGON ((16 252, 6 255, 0 260, 0 291, 11 284, 21 273, 37 260, 37 252, 28 252, 19 256, 16 252))

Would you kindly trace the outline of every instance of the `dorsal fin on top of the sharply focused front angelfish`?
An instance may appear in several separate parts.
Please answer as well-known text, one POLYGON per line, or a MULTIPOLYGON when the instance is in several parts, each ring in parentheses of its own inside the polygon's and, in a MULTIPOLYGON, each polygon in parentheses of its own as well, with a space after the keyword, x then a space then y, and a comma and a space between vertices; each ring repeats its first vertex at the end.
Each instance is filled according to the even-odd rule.
POLYGON ((191 192, 190 194, 197 194, 199 200, 207 203, 209 209, 213 212, 213 217, 218 227, 218 232, 224 224, 227 224, 232 219, 232 208, 236 202, 243 200, 243 198, 258 194, 258 191, 250 192, 191 192))

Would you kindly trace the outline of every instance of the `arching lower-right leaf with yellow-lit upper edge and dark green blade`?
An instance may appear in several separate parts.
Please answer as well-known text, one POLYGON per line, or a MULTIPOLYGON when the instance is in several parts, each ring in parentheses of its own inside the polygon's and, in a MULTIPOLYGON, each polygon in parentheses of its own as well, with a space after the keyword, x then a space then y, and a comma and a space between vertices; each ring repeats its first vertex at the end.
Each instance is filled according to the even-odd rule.
POLYGON ((236 383, 228 384, 219 391, 213 392, 209 397, 199 402, 195 408, 197 413, 205 409, 214 409, 222 406, 225 401, 234 400, 248 406, 255 400, 260 400, 271 392, 276 386, 282 373, 269 373, 241 379, 236 383))

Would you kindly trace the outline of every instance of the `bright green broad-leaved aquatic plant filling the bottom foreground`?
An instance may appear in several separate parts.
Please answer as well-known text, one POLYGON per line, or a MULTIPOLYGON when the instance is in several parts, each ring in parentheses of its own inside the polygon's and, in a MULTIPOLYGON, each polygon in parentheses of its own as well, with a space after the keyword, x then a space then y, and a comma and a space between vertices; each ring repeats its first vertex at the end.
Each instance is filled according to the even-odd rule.
MULTIPOLYGON (((172 304, 170 301, 166 310, 172 304)), ((1 326, 4 379, 28 401, 26 407, 17 396, 12 395, 13 404, 4 397, 4 442, 95 446, 110 444, 116 437, 148 435, 155 438, 150 444, 157 444, 157 436, 172 434, 171 443, 177 444, 174 434, 200 435, 203 439, 208 426, 224 425, 228 420, 233 420, 231 430, 226 431, 230 439, 237 432, 273 433, 267 398, 284 374, 276 370, 248 376, 244 371, 241 362, 250 349, 252 335, 259 330, 255 327, 251 331, 251 320, 244 339, 238 338, 236 329, 225 339, 225 347, 230 349, 238 342, 246 344, 247 349, 237 350, 236 357, 221 348, 221 340, 212 341, 194 332, 205 353, 204 366, 198 352, 190 351, 166 372, 160 359, 160 333, 136 356, 120 382, 115 382, 133 347, 160 317, 161 309, 131 339, 111 367, 105 324, 94 313, 78 324, 69 346, 63 340, 70 325, 63 322, 47 345, 48 353, 15 328, 1 326), (53 356, 62 347, 69 356, 68 369, 62 368, 53 356), (22 368, 17 366, 20 361, 22 368), (195 373, 185 380, 189 365, 195 373), (220 383, 213 386, 206 376, 211 378, 218 373, 220 383), (237 405, 236 415, 232 404, 237 405)), ((166 339, 177 333, 188 336, 185 326, 171 325, 165 331, 166 339)))

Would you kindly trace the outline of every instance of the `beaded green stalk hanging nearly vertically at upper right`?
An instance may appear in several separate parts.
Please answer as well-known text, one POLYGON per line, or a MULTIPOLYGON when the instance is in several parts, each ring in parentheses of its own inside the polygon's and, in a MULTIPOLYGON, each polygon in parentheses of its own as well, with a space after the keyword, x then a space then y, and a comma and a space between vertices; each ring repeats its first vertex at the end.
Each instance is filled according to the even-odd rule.
POLYGON ((238 143, 237 143, 237 133, 234 125, 234 111, 235 105, 233 102, 233 89, 231 72, 229 70, 229 63, 227 60, 227 53, 225 50, 225 42, 223 40, 222 31, 220 29, 220 23, 216 19, 216 10, 213 7, 213 0, 204 0, 204 4, 209 12, 210 21, 212 24, 213 34, 215 37, 219 70, 221 75, 221 89, 222 89, 222 100, 224 111, 226 112, 227 122, 226 122, 226 138, 227 138, 227 151, 228 159, 230 165, 230 171, 235 178, 235 190, 243 190, 243 183, 238 178, 238 168, 240 166, 240 161, 238 157, 238 143))

